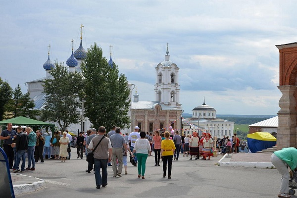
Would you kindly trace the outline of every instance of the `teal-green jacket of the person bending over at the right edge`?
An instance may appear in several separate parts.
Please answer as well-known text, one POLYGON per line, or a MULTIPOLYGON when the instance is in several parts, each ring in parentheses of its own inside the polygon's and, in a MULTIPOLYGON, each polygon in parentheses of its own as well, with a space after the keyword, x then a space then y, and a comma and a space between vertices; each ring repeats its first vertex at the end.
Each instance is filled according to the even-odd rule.
POLYGON ((287 163, 291 170, 295 170, 297 167, 297 149, 294 147, 283 148, 281 150, 274 151, 274 154, 287 163))

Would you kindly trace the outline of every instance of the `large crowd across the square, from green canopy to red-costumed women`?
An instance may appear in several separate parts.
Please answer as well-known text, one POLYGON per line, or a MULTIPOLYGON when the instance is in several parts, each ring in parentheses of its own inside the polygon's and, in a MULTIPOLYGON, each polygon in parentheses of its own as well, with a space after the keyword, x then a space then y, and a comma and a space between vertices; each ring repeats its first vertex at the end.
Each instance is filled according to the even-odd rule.
POLYGON ((138 178, 145 179, 146 162, 148 156, 154 152, 155 166, 163 162, 163 177, 171 179, 172 161, 179 160, 180 153, 183 157, 193 157, 197 160, 210 159, 213 156, 214 141, 209 133, 202 133, 201 137, 196 132, 192 135, 182 136, 172 127, 168 131, 153 133, 139 132, 135 126, 134 132, 122 134, 121 128, 112 126, 112 130, 106 133, 103 126, 97 131, 91 128, 85 134, 80 132, 73 138, 68 131, 56 131, 42 134, 40 130, 34 132, 30 127, 17 127, 17 132, 12 129, 12 124, 3 130, 0 139, 3 140, 3 148, 8 157, 9 168, 14 173, 35 170, 35 163, 44 163, 45 159, 61 160, 66 162, 71 158, 71 143, 76 143, 77 159, 83 156, 94 156, 94 160, 88 161, 87 173, 94 170, 96 188, 107 185, 107 166, 112 166, 113 177, 122 177, 122 172, 128 174, 128 153, 138 166, 138 178), (28 166, 25 168, 26 153, 28 166), (21 168, 19 167, 22 160, 21 168), (123 171, 124 167, 124 171, 123 171), (100 169, 101 174, 100 174, 100 169))

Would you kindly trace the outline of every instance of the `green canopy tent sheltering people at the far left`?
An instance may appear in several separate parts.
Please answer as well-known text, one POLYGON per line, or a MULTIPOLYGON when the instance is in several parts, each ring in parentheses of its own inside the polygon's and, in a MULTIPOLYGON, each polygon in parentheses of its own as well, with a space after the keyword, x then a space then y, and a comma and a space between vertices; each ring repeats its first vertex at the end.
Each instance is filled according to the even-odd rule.
POLYGON ((41 122, 38 120, 26 118, 23 116, 0 121, 0 127, 1 127, 2 131, 6 129, 6 126, 8 123, 12 123, 13 125, 19 125, 19 126, 25 125, 27 127, 31 127, 33 129, 33 131, 36 131, 37 129, 40 129, 40 128, 49 127, 51 132, 54 132, 54 124, 41 122))

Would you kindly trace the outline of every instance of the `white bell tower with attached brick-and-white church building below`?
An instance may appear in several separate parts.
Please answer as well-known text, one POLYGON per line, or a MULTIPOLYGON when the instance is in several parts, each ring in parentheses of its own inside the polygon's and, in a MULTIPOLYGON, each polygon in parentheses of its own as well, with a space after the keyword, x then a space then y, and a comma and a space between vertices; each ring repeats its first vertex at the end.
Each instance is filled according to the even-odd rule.
POLYGON ((155 101, 140 101, 136 93, 131 102, 131 130, 138 126, 141 131, 166 131, 170 126, 181 131, 182 107, 179 102, 179 67, 170 60, 167 50, 165 60, 155 67, 155 101))

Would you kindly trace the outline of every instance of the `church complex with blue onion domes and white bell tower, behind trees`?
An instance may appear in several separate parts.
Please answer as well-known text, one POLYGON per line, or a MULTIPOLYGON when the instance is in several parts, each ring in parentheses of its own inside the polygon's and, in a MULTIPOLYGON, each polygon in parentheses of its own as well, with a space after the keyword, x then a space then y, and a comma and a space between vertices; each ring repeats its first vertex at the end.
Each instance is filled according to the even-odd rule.
MULTIPOLYGON (((82 46, 83 25, 81 28, 80 46, 73 52, 66 61, 69 72, 81 71, 80 64, 86 58, 87 51, 82 46)), ((50 46, 49 46, 50 48, 50 46)), ((48 53, 49 55, 49 53, 48 53)), ((175 130, 181 130, 182 123, 182 107, 179 102, 180 88, 179 88, 179 67, 170 60, 170 55, 167 50, 165 60, 161 61, 156 67, 156 83, 155 83, 155 101, 141 101, 139 95, 135 93, 132 99, 132 92, 136 85, 128 83, 130 89, 131 105, 128 115, 131 117, 130 128, 124 129, 123 133, 131 133, 134 126, 139 126, 141 131, 153 132, 154 130, 165 131, 172 126, 175 130)), ((111 58, 108 61, 110 66, 113 65, 111 58)), ((35 102, 35 109, 43 109, 45 104, 45 93, 42 83, 45 79, 51 78, 49 71, 54 68, 54 64, 48 57, 44 63, 43 68, 46 70, 46 76, 30 82, 26 82, 30 98, 35 102)), ((78 134, 79 131, 86 131, 91 127, 92 123, 88 118, 82 116, 80 124, 72 124, 67 130, 78 134)), ((56 125, 57 126, 57 125, 56 125)))

